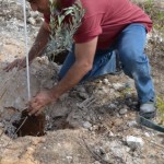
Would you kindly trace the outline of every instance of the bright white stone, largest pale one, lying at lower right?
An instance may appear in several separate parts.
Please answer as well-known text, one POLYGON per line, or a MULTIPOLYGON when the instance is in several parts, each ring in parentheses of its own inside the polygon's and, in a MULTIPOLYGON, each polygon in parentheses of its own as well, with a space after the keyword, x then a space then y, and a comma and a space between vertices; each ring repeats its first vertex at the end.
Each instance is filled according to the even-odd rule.
POLYGON ((133 150, 136 150, 137 148, 142 148, 144 144, 141 138, 137 138, 133 136, 127 136, 126 141, 127 141, 127 144, 133 150))

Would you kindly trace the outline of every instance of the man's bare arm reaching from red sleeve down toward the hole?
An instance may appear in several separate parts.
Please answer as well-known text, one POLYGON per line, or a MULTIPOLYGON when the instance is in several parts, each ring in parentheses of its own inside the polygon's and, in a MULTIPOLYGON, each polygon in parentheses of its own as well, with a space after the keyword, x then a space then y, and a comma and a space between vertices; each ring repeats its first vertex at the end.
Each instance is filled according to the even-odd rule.
POLYGON ((87 43, 75 45, 75 62, 58 85, 52 87, 54 99, 59 98, 63 93, 72 89, 92 69, 97 39, 98 37, 95 37, 87 43))

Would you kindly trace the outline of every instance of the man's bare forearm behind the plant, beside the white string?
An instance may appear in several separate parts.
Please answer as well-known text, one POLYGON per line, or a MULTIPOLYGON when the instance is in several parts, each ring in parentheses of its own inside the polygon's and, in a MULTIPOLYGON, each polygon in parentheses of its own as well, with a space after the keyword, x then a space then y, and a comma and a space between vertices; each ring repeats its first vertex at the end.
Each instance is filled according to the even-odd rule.
POLYGON ((48 28, 46 28, 46 25, 43 24, 37 34, 35 43, 33 44, 33 46, 28 52, 30 61, 32 61, 35 57, 38 57, 42 55, 43 50, 45 49, 45 47, 48 43, 49 34, 50 34, 50 32, 48 31, 48 28))

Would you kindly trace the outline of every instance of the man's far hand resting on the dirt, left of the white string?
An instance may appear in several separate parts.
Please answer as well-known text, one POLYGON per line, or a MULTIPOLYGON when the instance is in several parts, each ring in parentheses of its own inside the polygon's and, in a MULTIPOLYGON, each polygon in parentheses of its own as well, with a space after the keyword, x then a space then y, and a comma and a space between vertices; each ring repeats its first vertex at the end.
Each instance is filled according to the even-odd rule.
POLYGON ((3 70, 7 71, 7 72, 9 72, 14 67, 17 67, 19 69, 25 68, 26 67, 26 60, 25 60, 25 58, 15 59, 11 63, 9 63, 3 70))

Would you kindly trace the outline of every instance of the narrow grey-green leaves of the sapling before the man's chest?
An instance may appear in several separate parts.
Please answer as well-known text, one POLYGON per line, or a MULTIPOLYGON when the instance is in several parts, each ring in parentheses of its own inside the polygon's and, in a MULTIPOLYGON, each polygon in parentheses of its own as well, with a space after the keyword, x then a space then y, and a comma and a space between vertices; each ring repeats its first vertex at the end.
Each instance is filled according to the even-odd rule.
POLYGON ((84 9, 80 0, 72 7, 58 11, 57 5, 52 0, 50 3, 50 39, 47 46, 46 55, 56 56, 63 50, 71 50, 73 43, 73 35, 78 27, 81 25, 82 17, 84 16, 84 9), (66 21, 67 19, 67 21, 66 21))

